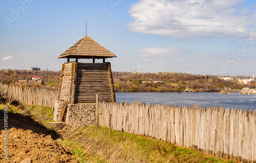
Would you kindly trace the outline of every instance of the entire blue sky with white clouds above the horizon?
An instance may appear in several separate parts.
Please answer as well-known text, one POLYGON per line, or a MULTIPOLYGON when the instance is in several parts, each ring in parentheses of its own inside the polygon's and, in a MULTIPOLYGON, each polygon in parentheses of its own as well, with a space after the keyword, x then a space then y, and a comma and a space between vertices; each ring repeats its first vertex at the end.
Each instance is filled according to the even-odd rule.
POLYGON ((58 56, 86 36, 86 23, 117 55, 106 59, 112 71, 256 74, 252 0, 4 0, 0 68, 60 70, 67 59, 58 56))

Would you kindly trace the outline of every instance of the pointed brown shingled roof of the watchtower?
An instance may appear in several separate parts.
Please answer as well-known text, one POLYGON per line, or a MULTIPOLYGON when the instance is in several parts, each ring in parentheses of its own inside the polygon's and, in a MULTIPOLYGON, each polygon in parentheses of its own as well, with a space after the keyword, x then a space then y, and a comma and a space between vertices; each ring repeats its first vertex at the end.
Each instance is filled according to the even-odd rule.
POLYGON ((105 49, 90 37, 86 36, 76 42, 58 58, 102 59, 111 57, 116 57, 116 55, 105 49))

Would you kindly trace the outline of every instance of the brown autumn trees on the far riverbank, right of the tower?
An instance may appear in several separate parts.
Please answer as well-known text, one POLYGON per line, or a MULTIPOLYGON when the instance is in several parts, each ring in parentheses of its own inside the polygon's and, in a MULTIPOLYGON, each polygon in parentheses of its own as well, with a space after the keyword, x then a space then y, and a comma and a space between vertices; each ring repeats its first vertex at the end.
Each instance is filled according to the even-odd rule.
POLYGON ((113 72, 114 88, 119 92, 164 91, 180 92, 187 87, 195 91, 220 91, 224 87, 242 89, 237 81, 225 81, 218 76, 187 73, 121 73, 113 72))

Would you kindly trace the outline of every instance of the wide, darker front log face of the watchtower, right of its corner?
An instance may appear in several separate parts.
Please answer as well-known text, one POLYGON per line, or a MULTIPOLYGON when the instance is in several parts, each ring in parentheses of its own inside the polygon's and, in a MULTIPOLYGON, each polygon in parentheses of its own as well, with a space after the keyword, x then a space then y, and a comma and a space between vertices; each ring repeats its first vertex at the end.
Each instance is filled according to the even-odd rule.
POLYGON ((110 62, 78 63, 74 103, 93 103, 98 101, 115 102, 115 92, 110 62))

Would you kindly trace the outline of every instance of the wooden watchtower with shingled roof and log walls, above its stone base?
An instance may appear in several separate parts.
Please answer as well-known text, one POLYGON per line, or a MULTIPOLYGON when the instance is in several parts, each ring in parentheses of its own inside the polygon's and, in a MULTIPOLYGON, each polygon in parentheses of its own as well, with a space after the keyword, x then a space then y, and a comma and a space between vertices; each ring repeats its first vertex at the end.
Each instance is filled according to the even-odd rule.
POLYGON ((115 102, 115 91, 110 62, 105 58, 116 57, 96 41, 86 36, 71 46, 58 58, 68 58, 62 64, 58 100, 69 104, 115 102), (70 61, 75 58, 75 61, 70 61), (80 63, 78 59, 92 59, 92 63, 80 63), (95 63, 102 59, 102 63, 95 63))

